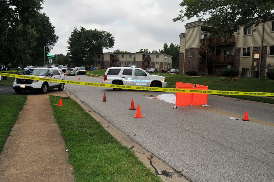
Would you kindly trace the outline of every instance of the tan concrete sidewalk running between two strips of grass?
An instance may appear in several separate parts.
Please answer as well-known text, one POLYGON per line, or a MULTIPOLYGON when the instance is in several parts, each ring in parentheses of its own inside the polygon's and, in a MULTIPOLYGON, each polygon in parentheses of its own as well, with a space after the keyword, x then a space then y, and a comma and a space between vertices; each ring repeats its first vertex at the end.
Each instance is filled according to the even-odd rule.
MULTIPOLYGON (((64 92, 51 95, 67 96, 64 92)), ((0 182, 75 181, 50 99, 28 95, 0 155, 0 182)))

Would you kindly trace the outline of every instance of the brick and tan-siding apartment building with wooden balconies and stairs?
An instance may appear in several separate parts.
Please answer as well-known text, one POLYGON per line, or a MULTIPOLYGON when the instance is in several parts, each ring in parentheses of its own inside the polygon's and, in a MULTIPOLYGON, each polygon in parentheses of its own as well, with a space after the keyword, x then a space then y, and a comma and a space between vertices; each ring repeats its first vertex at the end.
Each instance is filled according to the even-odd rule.
POLYGON ((274 20, 253 26, 242 26, 231 38, 209 38, 212 27, 203 21, 185 25, 180 37, 179 70, 186 74, 218 75, 224 68, 239 70, 245 77, 265 78, 266 65, 274 68, 274 20))

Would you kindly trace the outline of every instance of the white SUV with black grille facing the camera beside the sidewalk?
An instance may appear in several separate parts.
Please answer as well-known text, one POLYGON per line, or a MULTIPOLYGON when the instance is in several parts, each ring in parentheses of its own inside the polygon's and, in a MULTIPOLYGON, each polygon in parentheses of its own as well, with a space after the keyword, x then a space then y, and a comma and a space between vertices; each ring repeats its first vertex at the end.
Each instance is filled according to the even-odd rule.
MULTIPOLYGON (((64 73, 58 68, 31 68, 30 70, 22 70, 21 68, 17 69, 16 74, 33 76, 37 75, 40 78, 51 78, 56 80, 65 80, 64 73)), ((22 93, 25 91, 36 91, 42 94, 46 94, 49 89, 58 88, 59 91, 64 89, 64 83, 41 81, 41 80, 32 80, 25 78, 15 78, 13 82, 13 90, 16 93, 22 93)))

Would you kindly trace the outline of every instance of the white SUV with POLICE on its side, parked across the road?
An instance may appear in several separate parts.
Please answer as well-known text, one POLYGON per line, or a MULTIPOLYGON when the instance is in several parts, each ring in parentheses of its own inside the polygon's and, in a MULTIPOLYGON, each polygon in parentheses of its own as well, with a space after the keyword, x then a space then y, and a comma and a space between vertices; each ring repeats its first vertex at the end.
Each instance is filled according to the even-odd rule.
MULTIPOLYGON (((104 75, 104 84, 147 86, 147 87, 167 87, 164 76, 150 75, 141 68, 111 67, 104 75)), ((115 91, 122 89, 113 88, 115 91)))

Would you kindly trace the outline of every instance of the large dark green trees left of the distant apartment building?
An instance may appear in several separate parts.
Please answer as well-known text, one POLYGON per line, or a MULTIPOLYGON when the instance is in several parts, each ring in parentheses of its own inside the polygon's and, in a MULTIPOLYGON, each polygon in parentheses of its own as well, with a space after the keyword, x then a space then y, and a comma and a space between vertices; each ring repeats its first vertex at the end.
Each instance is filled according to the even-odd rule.
POLYGON ((114 37, 104 30, 86 30, 75 27, 68 37, 68 53, 75 66, 93 63, 95 65, 95 54, 102 53, 103 49, 110 49, 114 46, 114 37))

